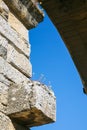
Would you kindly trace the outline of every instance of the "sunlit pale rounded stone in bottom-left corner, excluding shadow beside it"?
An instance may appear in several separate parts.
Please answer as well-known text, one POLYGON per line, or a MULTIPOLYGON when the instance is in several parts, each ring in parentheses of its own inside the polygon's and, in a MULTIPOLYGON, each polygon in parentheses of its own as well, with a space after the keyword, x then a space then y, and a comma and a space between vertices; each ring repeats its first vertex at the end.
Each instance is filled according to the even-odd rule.
POLYGON ((0 130, 15 130, 11 120, 0 112, 0 130))

